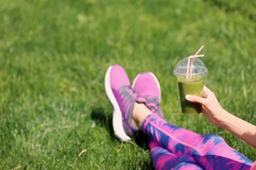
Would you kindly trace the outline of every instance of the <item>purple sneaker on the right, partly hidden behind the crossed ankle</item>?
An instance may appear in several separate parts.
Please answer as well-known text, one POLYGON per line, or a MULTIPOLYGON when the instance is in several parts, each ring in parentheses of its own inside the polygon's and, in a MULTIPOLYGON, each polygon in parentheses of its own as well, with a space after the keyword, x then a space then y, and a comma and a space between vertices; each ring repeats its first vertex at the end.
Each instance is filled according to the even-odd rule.
POLYGON ((139 93, 136 102, 145 103, 148 109, 163 118, 163 112, 160 107, 161 88, 158 78, 151 72, 140 73, 133 80, 132 87, 139 93))

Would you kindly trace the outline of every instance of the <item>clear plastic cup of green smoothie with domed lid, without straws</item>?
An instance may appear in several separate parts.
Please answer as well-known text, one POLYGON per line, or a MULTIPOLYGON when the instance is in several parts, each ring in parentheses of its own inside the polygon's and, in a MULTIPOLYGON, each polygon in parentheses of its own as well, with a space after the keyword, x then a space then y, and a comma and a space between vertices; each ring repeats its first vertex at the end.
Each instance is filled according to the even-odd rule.
POLYGON ((203 82, 208 70, 203 61, 198 58, 194 58, 191 75, 187 75, 187 70, 189 70, 188 73, 190 74, 190 68, 188 69, 188 57, 181 59, 173 71, 173 74, 177 76, 181 111, 184 114, 198 114, 202 112, 202 105, 200 103, 187 101, 185 96, 189 94, 202 97, 203 82))

